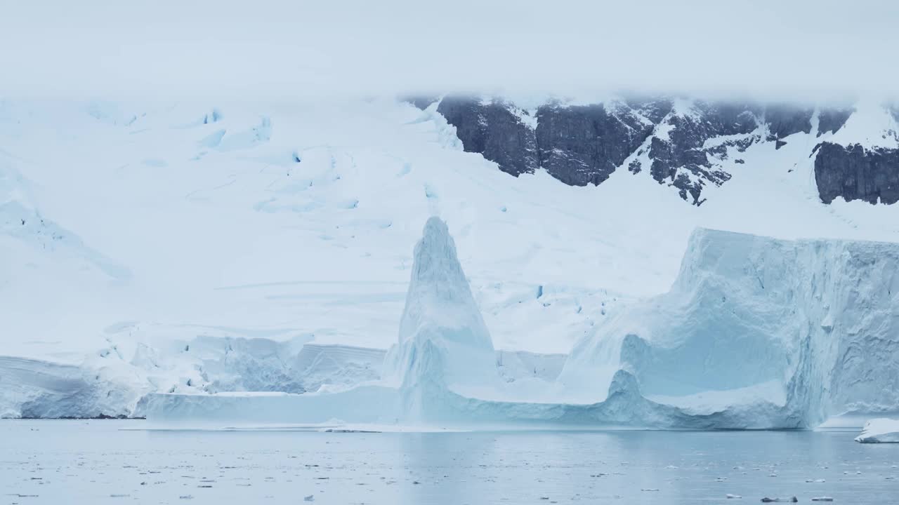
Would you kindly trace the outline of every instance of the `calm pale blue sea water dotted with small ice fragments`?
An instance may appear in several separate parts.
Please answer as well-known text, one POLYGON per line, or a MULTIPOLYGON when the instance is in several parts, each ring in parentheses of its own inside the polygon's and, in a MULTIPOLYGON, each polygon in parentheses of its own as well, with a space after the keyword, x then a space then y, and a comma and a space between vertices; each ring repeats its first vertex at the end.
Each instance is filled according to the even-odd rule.
POLYGON ((0 504, 899 501, 852 431, 326 433, 0 421, 0 504), (728 494, 742 498, 727 498, 728 494))

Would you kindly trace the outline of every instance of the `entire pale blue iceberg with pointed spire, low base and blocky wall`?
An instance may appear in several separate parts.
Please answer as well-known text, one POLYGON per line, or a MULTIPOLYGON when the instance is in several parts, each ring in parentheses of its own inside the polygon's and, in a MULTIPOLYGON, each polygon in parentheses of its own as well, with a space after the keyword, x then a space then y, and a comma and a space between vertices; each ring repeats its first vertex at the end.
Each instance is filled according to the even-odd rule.
POLYGON ((379 378, 314 393, 147 394, 158 426, 814 429, 899 412, 899 244, 690 237, 663 295, 598 323, 557 377, 506 382, 449 228, 424 226, 379 378))

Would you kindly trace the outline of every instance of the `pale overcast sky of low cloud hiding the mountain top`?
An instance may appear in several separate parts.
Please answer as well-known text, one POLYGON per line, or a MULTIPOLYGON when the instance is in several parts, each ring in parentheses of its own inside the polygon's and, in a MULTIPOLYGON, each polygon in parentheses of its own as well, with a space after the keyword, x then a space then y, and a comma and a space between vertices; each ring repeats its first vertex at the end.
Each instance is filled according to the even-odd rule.
POLYGON ((899 88, 893 0, 0 0, 6 96, 899 88))

